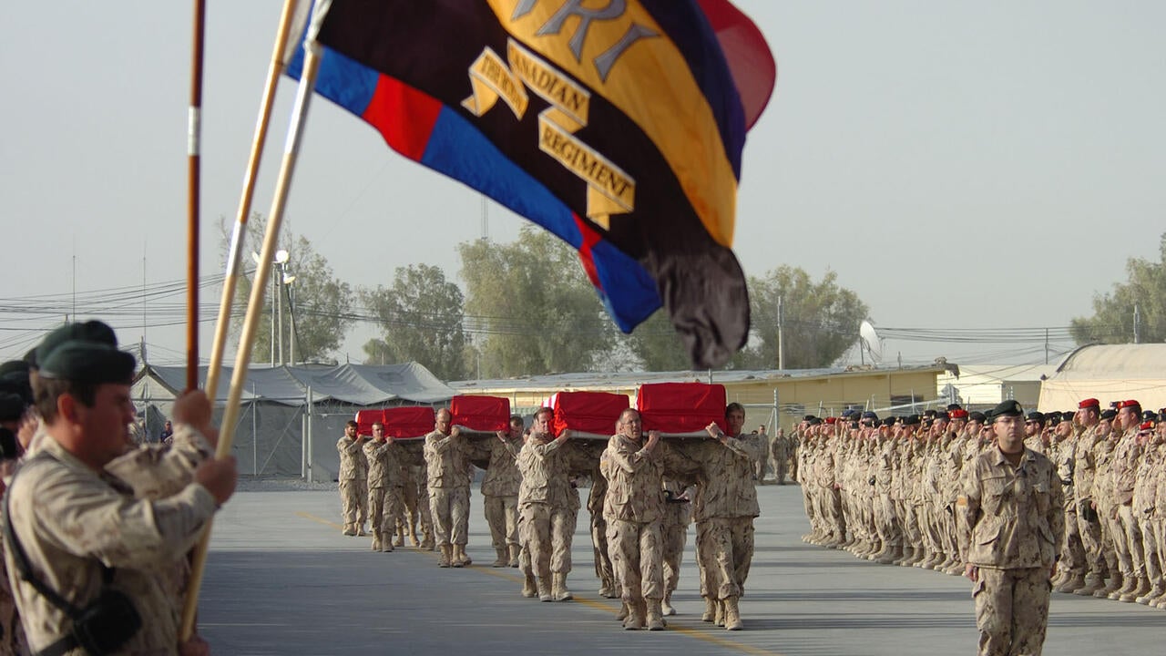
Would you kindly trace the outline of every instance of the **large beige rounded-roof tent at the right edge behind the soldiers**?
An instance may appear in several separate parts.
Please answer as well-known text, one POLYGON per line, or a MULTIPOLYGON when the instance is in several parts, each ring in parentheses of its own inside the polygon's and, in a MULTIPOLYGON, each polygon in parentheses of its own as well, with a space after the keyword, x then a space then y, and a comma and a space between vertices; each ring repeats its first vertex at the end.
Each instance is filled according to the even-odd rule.
POLYGON ((1136 399, 1166 407, 1166 344, 1094 344, 1073 351, 1040 388, 1040 410, 1074 410, 1081 399, 1102 407, 1136 399))

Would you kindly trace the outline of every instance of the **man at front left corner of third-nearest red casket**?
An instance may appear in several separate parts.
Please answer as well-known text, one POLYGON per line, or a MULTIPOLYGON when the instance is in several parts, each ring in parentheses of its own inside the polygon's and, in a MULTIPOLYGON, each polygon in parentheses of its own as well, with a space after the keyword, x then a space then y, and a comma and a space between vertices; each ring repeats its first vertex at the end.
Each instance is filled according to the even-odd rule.
POLYGON ((441 556, 438 567, 464 567, 472 560, 465 554, 470 524, 470 468, 465 438, 452 424, 449 410, 437 411, 434 431, 426 435, 426 466, 429 473, 429 511, 441 556))

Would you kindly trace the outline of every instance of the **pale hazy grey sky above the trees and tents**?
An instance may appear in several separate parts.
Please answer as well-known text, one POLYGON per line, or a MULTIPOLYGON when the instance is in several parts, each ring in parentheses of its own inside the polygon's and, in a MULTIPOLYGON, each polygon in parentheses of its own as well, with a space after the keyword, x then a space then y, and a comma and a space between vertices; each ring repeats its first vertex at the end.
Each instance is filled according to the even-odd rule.
MULTIPOLYGON (((23 354, 59 323, 75 271, 82 298, 132 292, 143 274, 150 286, 184 279, 190 5, 7 8, 0 356, 23 354), (51 314, 15 312, 52 294, 51 314)), ((203 275, 222 273, 218 224, 234 218, 281 2, 209 5, 203 275)), ((745 148, 735 250, 746 273, 833 270, 880 327, 1056 328, 1123 281, 1128 258, 1157 259, 1166 229, 1166 4, 737 5, 779 69, 745 148)), ((264 214, 294 92, 294 82, 280 83, 255 200, 264 214)), ((338 277, 377 285, 417 263, 456 277, 455 245, 480 235, 482 202, 317 98, 287 217, 338 277)), ((492 239, 513 239, 522 222, 490 203, 492 239)), ((205 291, 204 303, 217 307, 218 293, 205 291)), ((149 301, 150 322, 183 302, 149 301)), ((106 319, 136 342, 141 302, 120 309, 106 319)), ((211 332, 204 323, 204 357, 211 332)), ((360 361, 368 336, 358 326, 340 360, 360 361)), ((181 361, 181 326, 149 327, 146 340, 152 361, 181 361)), ((1044 356, 1032 344, 888 340, 885 349, 906 362, 1044 356)))

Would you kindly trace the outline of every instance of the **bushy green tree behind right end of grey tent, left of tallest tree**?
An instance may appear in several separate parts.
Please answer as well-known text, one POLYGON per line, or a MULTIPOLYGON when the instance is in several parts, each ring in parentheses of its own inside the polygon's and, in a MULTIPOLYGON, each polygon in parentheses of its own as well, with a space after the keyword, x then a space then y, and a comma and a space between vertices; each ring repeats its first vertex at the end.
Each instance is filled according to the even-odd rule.
POLYGON ((465 378, 462 291, 441 267, 398 267, 392 287, 363 289, 360 300, 384 330, 364 346, 368 362, 415 361, 443 381, 465 378))

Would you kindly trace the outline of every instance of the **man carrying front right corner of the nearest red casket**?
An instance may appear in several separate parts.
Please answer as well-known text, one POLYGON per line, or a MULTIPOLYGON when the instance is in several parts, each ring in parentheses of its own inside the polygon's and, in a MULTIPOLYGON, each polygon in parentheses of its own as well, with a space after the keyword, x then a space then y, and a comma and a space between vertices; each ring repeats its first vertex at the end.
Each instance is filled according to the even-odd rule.
POLYGON ((761 449, 757 435, 743 433, 745 407, 725 407, 729 433, 716 423, 705 427, 705 441, 696 456, 702 472, 696 481, 693 519, 696 522, 696 553, 708 593, 703 621, 716 621, 731 631, 744 628, 737 600, 753 561, 753 518, 761 514, 750 470, 761 449))

